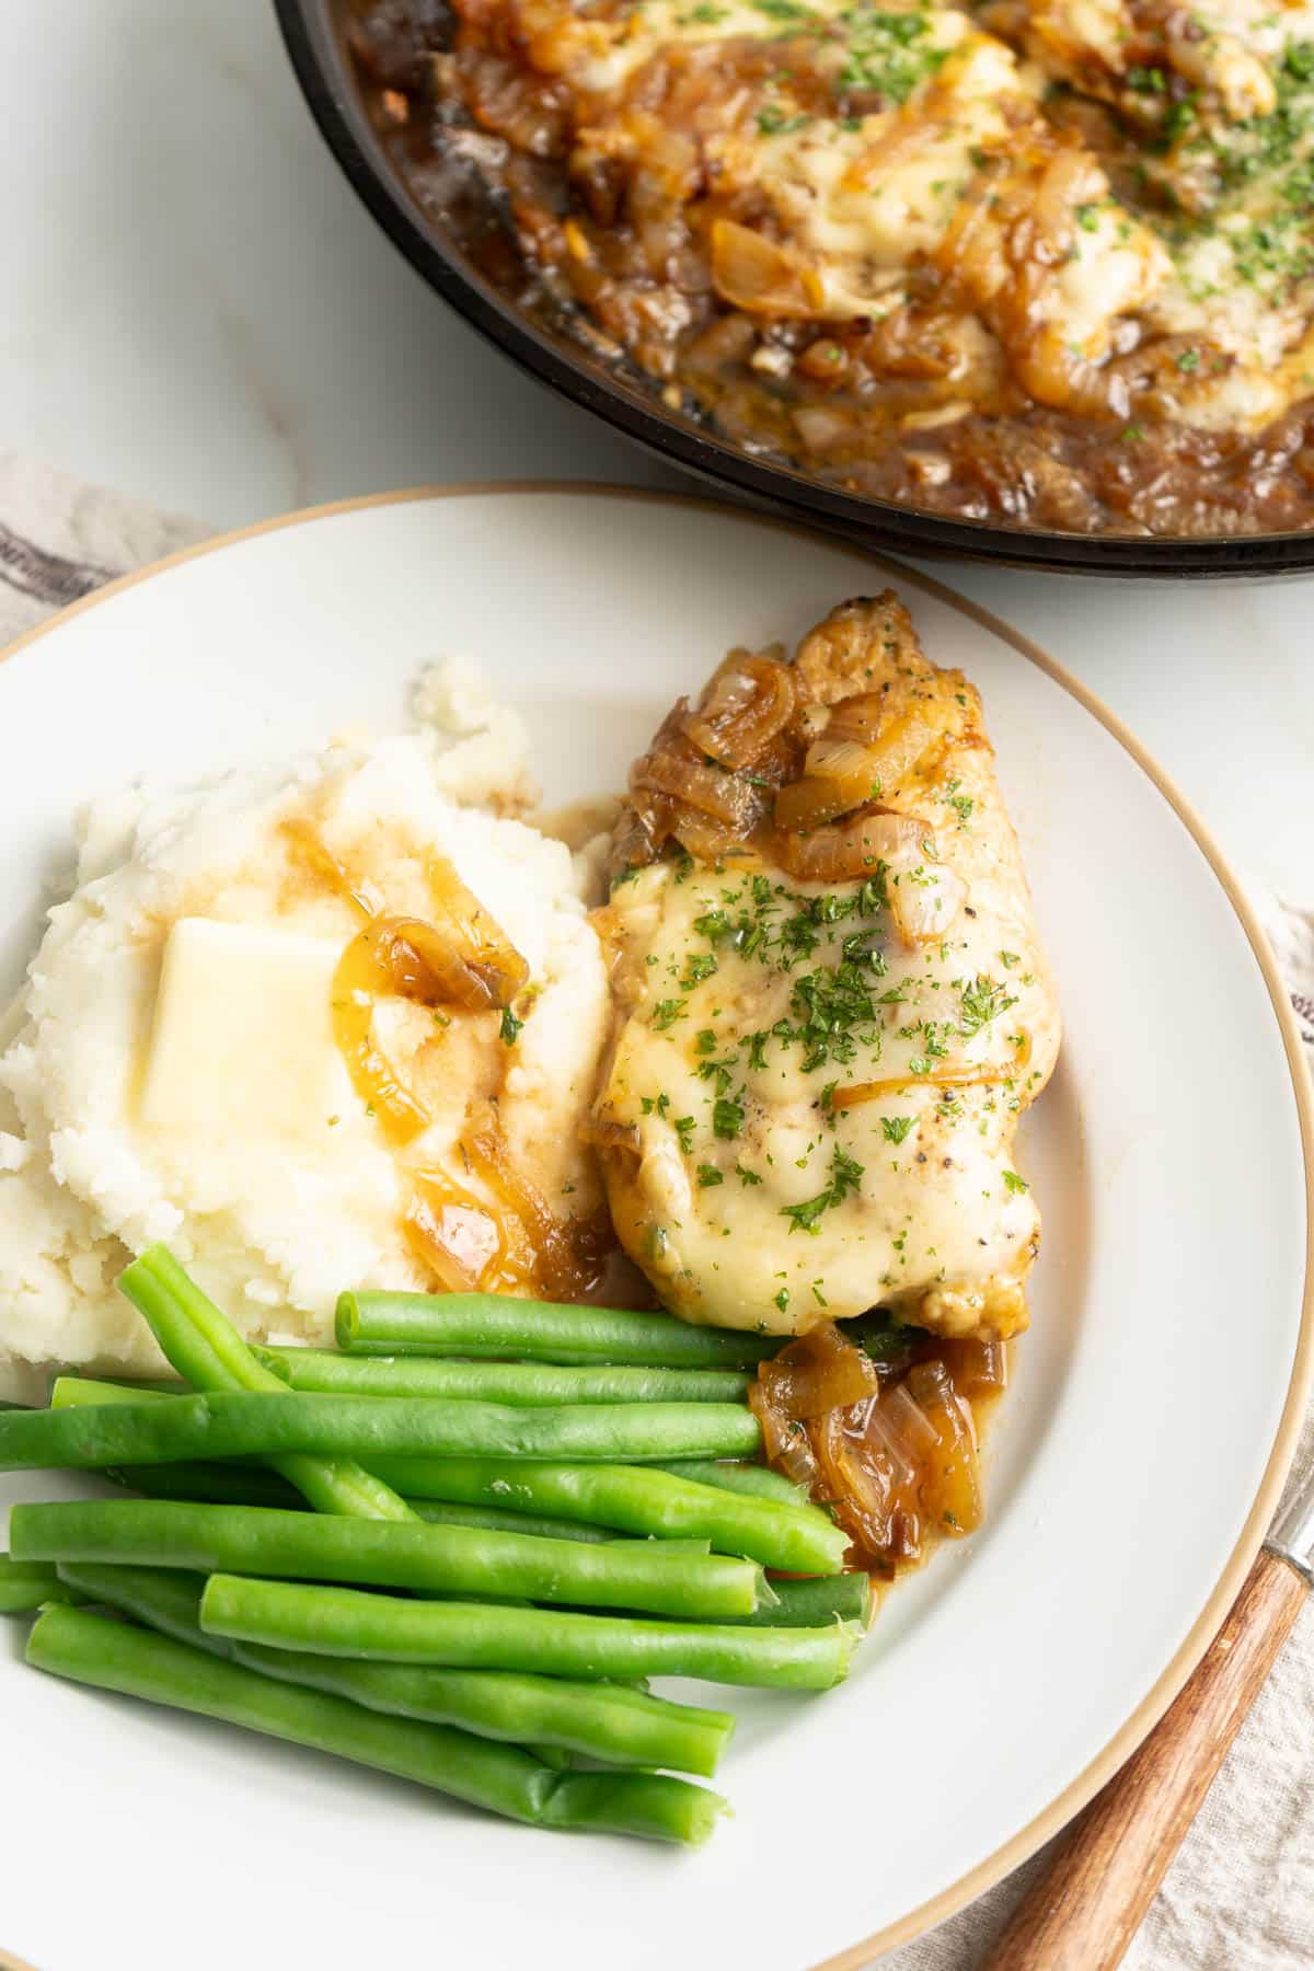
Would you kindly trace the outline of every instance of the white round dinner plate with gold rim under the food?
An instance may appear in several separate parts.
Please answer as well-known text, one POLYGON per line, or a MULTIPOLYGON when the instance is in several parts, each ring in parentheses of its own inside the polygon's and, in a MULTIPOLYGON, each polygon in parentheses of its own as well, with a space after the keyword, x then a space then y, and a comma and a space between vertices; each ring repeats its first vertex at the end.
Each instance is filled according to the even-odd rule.
POLYGON ((0 997, 99 788, 396 725, 416 668, 469 650, 569 798, 617 784, 731 643, 890 576, 985 694, 1068 1031, 1020 1157, 1046 1246, 985 1531, 890 1597, 839 1691, 733 1695, 735 1819, 697 1855, 528 1833, 45 1681, 6 1628, 0 1943, 41 1971, 855 1967, 1076 1811, 1217 1626, 1310 1366, 1281 989, 1127 733, 902 570, 693 501, 526 489, 361 503, 128 581, 0 670, 0 997))

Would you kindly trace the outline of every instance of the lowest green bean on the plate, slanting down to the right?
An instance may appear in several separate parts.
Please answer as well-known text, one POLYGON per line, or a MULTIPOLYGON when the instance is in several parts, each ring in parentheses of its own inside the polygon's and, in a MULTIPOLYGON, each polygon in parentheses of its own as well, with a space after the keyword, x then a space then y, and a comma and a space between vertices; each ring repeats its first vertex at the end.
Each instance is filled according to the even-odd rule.
POLYGON ((77 1683, 335 1752, 536 1827, 697 1843, 725 1811, 723 1800, 688 1780, 552 1772, 518 1746, 364 1711, 345 1697, 278 1683, 246 1664, 221 1662, 171 1636, 83 1608, 47 1608, 37 1616, 28 1662, 77 1683))

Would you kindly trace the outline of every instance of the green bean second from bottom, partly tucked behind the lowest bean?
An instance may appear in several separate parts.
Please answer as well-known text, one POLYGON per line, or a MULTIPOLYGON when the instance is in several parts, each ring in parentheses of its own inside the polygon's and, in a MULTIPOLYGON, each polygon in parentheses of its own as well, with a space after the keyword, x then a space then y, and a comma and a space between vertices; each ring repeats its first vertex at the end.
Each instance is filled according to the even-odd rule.
MULTIPOLYGON (((53 1569, 51 1569, 53 1579, 53 1569)), ((97 1567, 65 1561, 57 1585, 93 1602, 120 1608, 213 1656, 244 1662, 284 1683, 351 1697, 368 1711, 459 1725, 481 1738, 534 1738, 546 1748, 603 1758, 617 1766, 674 1766, 711 1778, 735 1719, 648 1697, 628 1685, 569 1683, 563 1677, 500 1669, 412 1669, 392 1664, 347 1664, 292 1650, 262 1650, 209 1636, 201 1628, 205 1575, 165 1567, 97 1567)))

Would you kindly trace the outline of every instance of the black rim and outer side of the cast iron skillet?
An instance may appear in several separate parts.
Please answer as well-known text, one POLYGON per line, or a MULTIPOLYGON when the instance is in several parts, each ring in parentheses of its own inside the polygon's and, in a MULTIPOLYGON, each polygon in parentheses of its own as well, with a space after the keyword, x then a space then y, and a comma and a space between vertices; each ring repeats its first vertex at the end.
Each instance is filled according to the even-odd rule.
POLYGON ((731 491, 756 507, 873 550, 953 554, 1091 576, 1217 579, 1314 570, 1314 532, 1239 540, 1147 540, 946 520, 843 493, 788 465, 753 457, 684 412, 668 410, 656 392, 593 357, 565 327, 554 331, 530 319, 508 294, 498 292, 496 282, 475 264, 455 215, 449 225, 422 211, 388 160, 359 101, 351 63, 337 35, 333 0, 274 0, 274 6, 319 130, 364 205, 412 266, 532 376, 583 404, 664 463, 680 465, 723 493, 731 491))

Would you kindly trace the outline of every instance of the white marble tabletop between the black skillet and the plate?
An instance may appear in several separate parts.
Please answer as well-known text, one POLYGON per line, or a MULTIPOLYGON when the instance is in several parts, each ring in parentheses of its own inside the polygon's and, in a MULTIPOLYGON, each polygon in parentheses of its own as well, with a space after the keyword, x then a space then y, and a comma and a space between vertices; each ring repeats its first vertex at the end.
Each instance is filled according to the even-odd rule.
MULTIPOLYGON (((313 130, 270 0, 43 0, 8 10, 4 53, 2 449, 215 526, 439 479, 680 483, 422 286, 313 130)), ((936 574, 1099 692, 1243 875, 1314 901, 1310 581, 936 574)))

